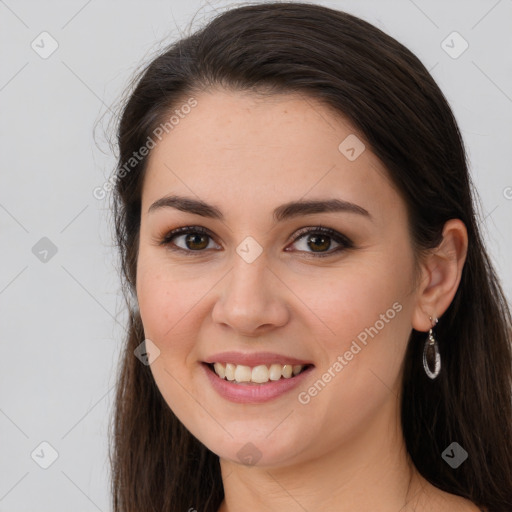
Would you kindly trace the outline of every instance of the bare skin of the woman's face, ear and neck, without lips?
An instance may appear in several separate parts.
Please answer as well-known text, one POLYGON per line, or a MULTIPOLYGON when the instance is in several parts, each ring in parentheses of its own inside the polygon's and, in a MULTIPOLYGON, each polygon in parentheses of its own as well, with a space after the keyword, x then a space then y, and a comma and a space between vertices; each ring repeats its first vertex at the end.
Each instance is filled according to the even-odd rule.
POLYGON ((427 332, 430 317, 441 317, 455 295, 464 224, 446 223, 443 242, 416 274, 405 203, 369 147, 352 161, 338 149, 356 134, 346 120, 297 95, 261 100, 215 90, 195 98, 197 106, 150 156, 137 295, 145 336, 160 350, 151 371, 162 395, 220 457, 219 511, 478 511, 419 475, 400 428, 407 341, 412 328, 427 332), (214 205, 224 218, 172 207, 148 212, 169 195, 214 205), (331 198, 369 215, 352 209, 272 217, 283 203, 331 198), (160 244, 183 226, 209 234, 194 242, 191 229, 189 239, 180 233, 160 244), (352 246, 297 235, 318 226, 352 246), (236 251, 248 236, 262 250, 250 263, 236 251), (377 334, 333 373, 338 356, 370 326, 377 334), (201 365, 230 350, 271 351, 314 368, 300 389, 264 403, 233 403, 213 389, 201 365), (328 384, 308 394, 329 369, 328 384), (248 443, 257 450, 251 465, 237 455, 248 443))

